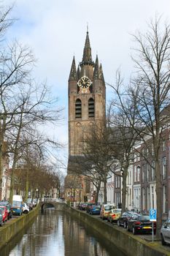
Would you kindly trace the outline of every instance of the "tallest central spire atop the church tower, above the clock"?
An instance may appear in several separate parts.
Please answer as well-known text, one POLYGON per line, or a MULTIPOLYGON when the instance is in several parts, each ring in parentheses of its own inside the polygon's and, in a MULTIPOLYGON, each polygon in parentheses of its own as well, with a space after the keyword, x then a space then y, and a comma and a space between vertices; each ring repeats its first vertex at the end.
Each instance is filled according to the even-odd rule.
POLYGON ((88 31, 86 33, 85 47, 83 51, 82 62, 80 62, 80 66, 85 64, 94 66, 94 62, 92 61, 92 56, 91 56, 90 39, 88 36, 88 31))

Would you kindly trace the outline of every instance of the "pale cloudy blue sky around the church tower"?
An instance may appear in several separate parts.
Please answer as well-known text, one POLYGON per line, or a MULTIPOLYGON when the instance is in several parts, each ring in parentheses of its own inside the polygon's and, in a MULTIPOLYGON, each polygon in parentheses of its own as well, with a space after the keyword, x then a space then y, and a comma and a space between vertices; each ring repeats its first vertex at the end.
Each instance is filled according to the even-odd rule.
MULTIPOLYGON (((136 31, 147 31, 147 23, 155 14, 169 22, 169 0, 5 0, 14 4, 15 23, 7 39, 18 39, 28 45, 37 59, 34 76, 47 80, 58 105, 64 107, 64 120, 50 133, 66 144, 58 151, 68 157, 68 78, 73 56, 82 61, 88 26, 93 61, 98 54, 104 80, 114 83, 115 72, 121 69, 128 78, 134 69, 131 61, 133 37, 136 31)), ((112 91, 107 88, 107 100, 112 91)))

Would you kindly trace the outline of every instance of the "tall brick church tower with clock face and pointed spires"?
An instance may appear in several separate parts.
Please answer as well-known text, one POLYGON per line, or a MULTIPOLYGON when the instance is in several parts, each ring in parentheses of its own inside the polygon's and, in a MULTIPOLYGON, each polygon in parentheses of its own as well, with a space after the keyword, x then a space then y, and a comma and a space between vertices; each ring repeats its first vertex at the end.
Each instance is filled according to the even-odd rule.
POLYGON ((78 68, 73 57, 69 74, 69 162, 65 178, 67 200, 87 201, 90 187, 85 177, 74 173, 74 158, 83 154, 85 135, 93 124, 105 125, 106 87, 101 64, 93 62, 88 31, 78 68))

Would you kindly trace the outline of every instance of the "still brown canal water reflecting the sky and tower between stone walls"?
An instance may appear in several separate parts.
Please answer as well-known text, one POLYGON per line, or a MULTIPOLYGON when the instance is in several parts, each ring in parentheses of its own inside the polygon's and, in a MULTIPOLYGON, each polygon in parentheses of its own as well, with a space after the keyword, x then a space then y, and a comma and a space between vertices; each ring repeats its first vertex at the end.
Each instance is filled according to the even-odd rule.
POLYGON ((47 208, 1 249, 0 256, 125 256, 89 227, 47 208))

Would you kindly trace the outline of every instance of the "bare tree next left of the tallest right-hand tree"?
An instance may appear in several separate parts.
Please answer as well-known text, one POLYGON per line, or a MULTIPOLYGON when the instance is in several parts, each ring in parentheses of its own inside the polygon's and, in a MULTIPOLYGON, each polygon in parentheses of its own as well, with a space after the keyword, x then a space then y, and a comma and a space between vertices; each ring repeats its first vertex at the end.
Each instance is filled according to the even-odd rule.
MULTIPOLYGON (((117 86, 120 80, 117 80, 117 86)), ((127 102, 126 102, 127 104, 127 102)), ((128 105, 130 108, 130 105, 128 105)), ((125 211, 125 199, 127 193, 127 176, 128 167, 132 165, 134 159, 134 151, 136 143, 139 140, 139 132, 133 129, 135 119, 131 118, 131 123, 128 121, 127 112, 121 106, 112 101, 109 106, 109 131, 110 131, 110 146, 112 147, 112 157, 117 162, 117 170, 119 176, 122 177, 122 212, 125 211), (133 126, 131 126, 133 124, 133 126)), ((117 172, 115 171, 115 175, 117 172)))

